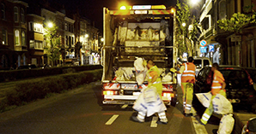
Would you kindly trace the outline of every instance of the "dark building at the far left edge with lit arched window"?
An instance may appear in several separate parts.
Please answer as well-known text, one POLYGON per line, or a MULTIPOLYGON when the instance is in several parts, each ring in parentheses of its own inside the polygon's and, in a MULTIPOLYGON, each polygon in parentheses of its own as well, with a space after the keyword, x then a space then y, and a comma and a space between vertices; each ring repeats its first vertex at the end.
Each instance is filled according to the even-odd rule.
POLYGON ((27 64, 27 3, 1 0, 0 69, 27 64))

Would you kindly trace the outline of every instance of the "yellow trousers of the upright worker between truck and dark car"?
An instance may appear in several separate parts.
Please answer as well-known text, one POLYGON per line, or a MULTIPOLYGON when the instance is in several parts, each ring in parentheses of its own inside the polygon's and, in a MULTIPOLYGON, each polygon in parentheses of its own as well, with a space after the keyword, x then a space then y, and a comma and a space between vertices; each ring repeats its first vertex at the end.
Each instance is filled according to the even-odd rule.
POLYGON ((183 92, 183 108, 185 114, 190 114, 192 108, 193 99, 193 84, 192 83, 181 83, 181 89, 183 92))

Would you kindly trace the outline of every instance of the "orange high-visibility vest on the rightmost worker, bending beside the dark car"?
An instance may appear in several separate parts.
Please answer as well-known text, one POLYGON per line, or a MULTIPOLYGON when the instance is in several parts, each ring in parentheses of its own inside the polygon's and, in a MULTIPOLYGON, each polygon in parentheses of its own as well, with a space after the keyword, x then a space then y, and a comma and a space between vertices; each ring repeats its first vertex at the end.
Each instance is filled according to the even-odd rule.
POLYGON ((225 79, 223 78, 222 73, 216 70, 216 72, 213 74, 213 80, 211 84, 211 94, 216 95, 222 90, 222 82, 224 82, 225 79))

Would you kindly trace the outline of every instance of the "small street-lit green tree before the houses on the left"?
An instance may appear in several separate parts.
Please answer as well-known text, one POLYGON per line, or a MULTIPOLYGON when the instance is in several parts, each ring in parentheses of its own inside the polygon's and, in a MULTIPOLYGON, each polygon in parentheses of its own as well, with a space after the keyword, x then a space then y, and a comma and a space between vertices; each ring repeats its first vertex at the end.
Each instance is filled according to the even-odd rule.
POLYGON ((51 61, 52 66, 56 65, 56 61, 60 59, 60 38, 57 34, 58 26, 46 26, 45 25, 45 38, 46 38, 46 46, 45 46, 45 53, 51 61))

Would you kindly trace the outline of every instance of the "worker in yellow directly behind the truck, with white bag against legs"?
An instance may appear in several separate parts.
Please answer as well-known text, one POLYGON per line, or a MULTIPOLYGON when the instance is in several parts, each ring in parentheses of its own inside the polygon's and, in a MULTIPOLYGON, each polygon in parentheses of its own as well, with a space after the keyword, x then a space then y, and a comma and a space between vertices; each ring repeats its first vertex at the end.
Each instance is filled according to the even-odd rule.
MULTIPOLYGON (((154 86, 155 91, 155 102, 146 102, 143 93, 138 96, 137 101, 135 102, 133 108, 138 111, 137 116, 131 116, 131 119, 136 122, 144 122, 145 116, 150 116, 157 113, 159 116, 158 124, 168 124, 168 119, 165 114, 167 110, 165 104, 162 102, 162 80, 160 78, 160 71, 158 67, 155 66, 155 63, 152 60, 147 62, 148 67, 148 88, 154 86)), ((145 91, 144 91, 145 92, 145 91)))

